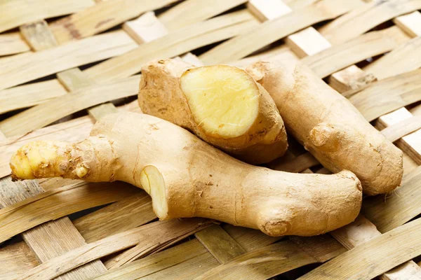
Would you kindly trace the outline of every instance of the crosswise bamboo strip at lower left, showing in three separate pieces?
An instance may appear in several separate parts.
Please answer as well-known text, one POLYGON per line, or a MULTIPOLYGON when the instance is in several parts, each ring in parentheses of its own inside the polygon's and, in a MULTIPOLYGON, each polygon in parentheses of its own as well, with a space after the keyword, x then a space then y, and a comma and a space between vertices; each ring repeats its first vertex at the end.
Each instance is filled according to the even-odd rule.
MULTIPOLYGON (((44 190, 35 181, 11 182, 10 177, 0 179, 0 204, 9 206, 37 195, 44 190)), ((44 223, 22 234, 23 239, 41 262, 85 244, 83 238, 69 218, 44 223)), ((106 271, 99 260, 88 263, 78 270, 60 276, 60 279, 74 279, 81 275, 93 277, 106 271)))

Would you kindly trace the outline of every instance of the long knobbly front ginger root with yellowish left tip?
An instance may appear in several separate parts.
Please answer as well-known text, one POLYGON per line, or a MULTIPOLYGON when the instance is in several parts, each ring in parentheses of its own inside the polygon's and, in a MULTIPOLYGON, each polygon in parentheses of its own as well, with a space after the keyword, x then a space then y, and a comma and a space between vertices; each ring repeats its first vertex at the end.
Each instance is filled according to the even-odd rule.
POLYGON ((125 181, 152 197, 160 219, 203 217, 267 235, 319 235, 354 221, 361 184, 352 172, 290 174, 255 167, 166 120, 116 113, 76 144, 37 141, 11 159, 13 179, 61 176, 125 181))

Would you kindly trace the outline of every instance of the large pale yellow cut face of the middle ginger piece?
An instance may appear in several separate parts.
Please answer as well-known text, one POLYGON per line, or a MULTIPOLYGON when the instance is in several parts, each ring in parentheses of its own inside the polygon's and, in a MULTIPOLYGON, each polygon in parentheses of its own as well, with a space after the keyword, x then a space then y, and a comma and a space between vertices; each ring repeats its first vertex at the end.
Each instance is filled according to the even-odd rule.
POLYGON ((245 71, 214 65, 189 69, 180 78, 194 121, 224 138, 245 134, 259 111, 259 89, 245 71))

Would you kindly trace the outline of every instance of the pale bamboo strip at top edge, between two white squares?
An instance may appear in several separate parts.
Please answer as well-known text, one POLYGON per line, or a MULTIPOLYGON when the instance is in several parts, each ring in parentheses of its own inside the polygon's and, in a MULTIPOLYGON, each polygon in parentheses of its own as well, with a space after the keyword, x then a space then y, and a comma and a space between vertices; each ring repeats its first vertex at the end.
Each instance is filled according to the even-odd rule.
POLYGON ((166 29, 173 31, 212 18, 242 3, 246 0, 215 0, 212 5, 203 5, 201 0, 187 0, 161 13, 158 18, 166 29))

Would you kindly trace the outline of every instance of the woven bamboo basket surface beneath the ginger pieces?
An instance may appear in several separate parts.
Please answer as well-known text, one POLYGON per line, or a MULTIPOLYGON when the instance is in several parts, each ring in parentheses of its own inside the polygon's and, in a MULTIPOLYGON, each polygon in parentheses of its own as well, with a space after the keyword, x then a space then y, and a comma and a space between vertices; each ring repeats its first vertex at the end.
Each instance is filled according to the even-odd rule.
MULTIPOLYGON (((421 279, 421 0, 0 1, 0 279, 421 279), (316 237, 158 221, 126 183, 12 183, 39 139, 80 141, 138 111, 140 69, 293 55, 401 148, 404 177, 316 237)), ((292 138, 292 137, 290 137, 292 138)), ((291 139, 274 169, 327 173, 291 139)), ((363 164, 363 162, 361 162, 363 164)))

